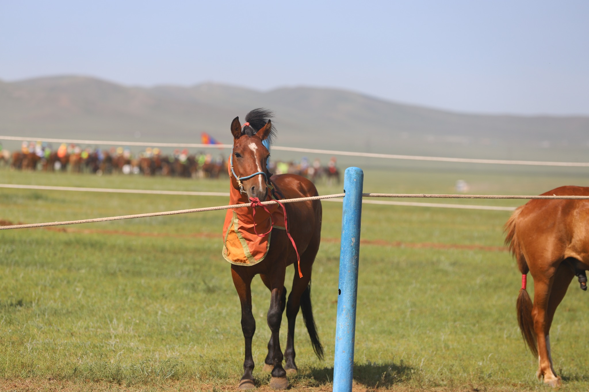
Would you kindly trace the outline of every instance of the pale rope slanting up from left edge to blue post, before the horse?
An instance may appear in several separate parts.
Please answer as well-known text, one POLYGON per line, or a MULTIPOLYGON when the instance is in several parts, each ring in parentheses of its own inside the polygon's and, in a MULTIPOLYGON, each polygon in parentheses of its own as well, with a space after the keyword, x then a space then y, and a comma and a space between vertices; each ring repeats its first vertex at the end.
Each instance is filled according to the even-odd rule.
MULTIPOLYGON (((333 197, 343 197, 345 195, 346 195, 345 193, 336 193, 335 195, 297 197, 295 199, 283 199, 283 200, 280 200, 280 202, 281 203, 294 203, 294 202, 304 202, 306 200, 332 199, 333 197)), ((276 204, 276 202, 269 201, 269 202, 262 202, 262 204, 263 205, 272 205, 272 204, 276 204)), ((67 220, 65 222, 30 223, 28 225, 0 226, 0 230, 30 229, 32 227, 47 227, 47 226, 78 225, 80 223, 108 222, 110 220, 122 220, 122 219, 146 218, 146 217, 151 217, 151 216, 189 214, 189 213, 193 213, 193 212, 227 210, 230 208, 241 208, 241 207, 249 207, 249 206, 250 206, 249 204, 234 204, 234 205, 229 205, 229 206, 194 208, 194 209, 190 209, 190 210, 151 212, 151 213, 147 213, 147 214, 110 216, 110 217, 94 218, 94 219, 67 220)))

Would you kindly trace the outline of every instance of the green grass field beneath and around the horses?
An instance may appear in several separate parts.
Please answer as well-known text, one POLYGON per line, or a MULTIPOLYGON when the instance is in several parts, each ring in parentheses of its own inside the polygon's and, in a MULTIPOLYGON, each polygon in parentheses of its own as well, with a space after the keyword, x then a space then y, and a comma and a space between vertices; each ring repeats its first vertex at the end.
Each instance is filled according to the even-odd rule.
MULTIPOLYGON (((365 192, 538 194, 589 185, 584 172, 366 172, 365 192)), ((22 173, 0 183, 133 189, 227 190, 226 180, 22 173)), ((319 187, 320 194, 339 193, 319 187)), ((412 200, 415 201, 415 200, 412 200)), ((428 200, 435 201, 435 200, 428 200)), ((0 189, 0 219, 50 222, 224 205, 223 197, 0 189)), ((448 203, 448 200, 444 200, 448 203)), ((455 203, 510 205, 518 200, 455 203)), ((293 390, 330 390, 341 203, 323 202, 313 307, 325 361, 299 317, 293 390)), ((422 246, 502 246, 509 212, 364 205, 355 388, 549 390, 515 318, 520 274, 507 252, 422 246)), ((234 390, 243 364, 239 300, 221 257, 224 212, 0 232, 0 389, 234 390)), ((293 270, 287 273, 290 288, 293 270)), ((532 285, 528 291, 532 293, 532 285)), ((587 293, 574 282, 551 331, 568 391, 589 387, 587 293)), ((255 376, 261 390, 269 292, 254 280, 255 376)), ((286 319, 285 319, 286 320, 286 319)), ((286 341, 283 323, 282 342, 286 341)))

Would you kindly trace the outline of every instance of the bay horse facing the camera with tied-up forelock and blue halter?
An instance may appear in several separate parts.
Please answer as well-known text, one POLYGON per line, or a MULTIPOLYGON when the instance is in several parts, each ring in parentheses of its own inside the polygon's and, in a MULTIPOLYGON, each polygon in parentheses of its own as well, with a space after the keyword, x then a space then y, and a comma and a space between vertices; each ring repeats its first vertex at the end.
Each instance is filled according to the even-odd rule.
MULTIPOLYGON (((269 183, 274 190, 285 199, 294 197, 316 196, 317 189, 312 182, 305 177, 297 175, 276 175, 270 177, 267 174, 266 161, 269 152, 262 144, 262 140, 274 136, 274 128, 269 118, 272 112, 263 109, 254 109, 246 116, 246 125, 243 127, 236 117, 231 123, 233 134, 233 171, 231 175, 231 186, 234 189, 241 189, 236 176, 247 177, 252 173, 263 172, 249 179, 241 181, 243 192, 247 193, 247 199, 258 197, 259 200, 266 200, 269 193, 269 183)), ((245 197, 245 196, 244 196, 245 197)), ((294 363, 294 325, 299 307, 302 309, 303 319, 313 349, 319 358, 323 357, 323 347, 317 337, 315 321, 310 299, 311 270, 321 236, 322 209, 319 200, 306 202, 288 203, 286 216, 288 229, 300 254, 300 272, 297 267, 297 252, 287 236, 286 230, 274 227, 270 233, 272 242, 264 259, 254 265, 231 264, 231 275, 233 283, 241 301, 241 330, 245 338, 245 360, 243 363, 243 377, 239 384, 240 389, 254 387, 252 357, 252 337, 256 330, 256 321, 252 314, 252 292, 250 285, 256 274, 262 278, 262 282, 270 290, 270 307, 267 313, 267 323, 272 332, 268 343, 268 354, 264 361, 264 370, 272 372, 270 387, 283 389, 288 386, 286 372, 296 372, 294 363), (286 267, 294 265, 294 278, 292 290, 286 301, 286 287, 284 287, 284 274, 286 267), (280 349, 279 331, 282 321, 282 313, 286 307, 288 320, 288 333, 286 339, 286 350, 284 356, 280 349), (284 367, 283 359, 286 359, 284 367)), ((247 207, 251 210, 251 207, 247 207)), ((258 214, 264 211, 260 208, 258 214)), ((270 219, 270 218, 269 218, 270 219)))

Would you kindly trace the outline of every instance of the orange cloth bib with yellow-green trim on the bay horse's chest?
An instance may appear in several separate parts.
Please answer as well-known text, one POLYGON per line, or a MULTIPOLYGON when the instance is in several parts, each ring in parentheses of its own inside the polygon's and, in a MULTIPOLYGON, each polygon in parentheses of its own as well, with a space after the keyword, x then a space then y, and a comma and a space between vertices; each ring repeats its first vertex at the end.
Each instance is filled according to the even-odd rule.
MULTIPOLYGON (((230 204, 250 204, 247 195, 230 187, 230 204)), ((273 200, 272 192, 268 193, 268 200, 273 200)), ((284 212, 276 204, 266 206, 270 215, 263 208, 256 210, 255 221, 252 207, 240 207, 227 210, 223 225, 223 257, 231 264, 253 266, 264 260, 270 249, 272 227, 284 228, 284 212), (272 224, 274 222, 274 224, 272 224), (256 226, 254 231, 254 225, 256 226), (268 233, 260 237, 256 234, 268 233)))

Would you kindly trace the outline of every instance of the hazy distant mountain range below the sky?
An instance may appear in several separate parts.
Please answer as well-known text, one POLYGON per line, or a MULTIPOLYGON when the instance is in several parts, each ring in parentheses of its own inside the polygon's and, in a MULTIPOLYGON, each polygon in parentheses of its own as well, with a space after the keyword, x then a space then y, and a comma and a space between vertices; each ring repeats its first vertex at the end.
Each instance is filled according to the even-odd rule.
POLYGON ((142 88, 84 76, 0 81, 0 134, 198 143, 206 131, 230 143, 231 120, 258 107, 276 113, 277 145, 507 159, 586 160, 589 152, 586 116, 478 115, 337 89, 142 88))

